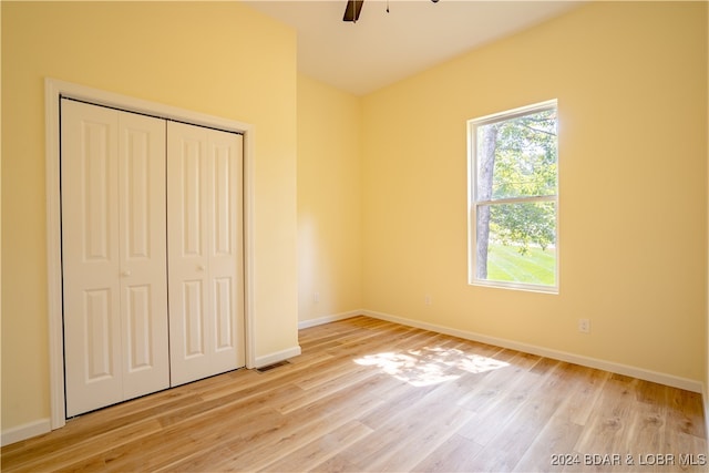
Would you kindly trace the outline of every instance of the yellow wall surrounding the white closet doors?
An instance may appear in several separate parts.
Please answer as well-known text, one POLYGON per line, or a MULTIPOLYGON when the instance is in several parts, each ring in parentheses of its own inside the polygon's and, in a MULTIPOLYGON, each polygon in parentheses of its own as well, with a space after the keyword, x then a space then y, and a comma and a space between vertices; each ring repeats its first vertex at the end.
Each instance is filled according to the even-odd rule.
POLYGON ((2 2, 2 429, 49 418, 44 78, 255 126, 256 356, 297 346, 296 35, 235 2, 2 2))

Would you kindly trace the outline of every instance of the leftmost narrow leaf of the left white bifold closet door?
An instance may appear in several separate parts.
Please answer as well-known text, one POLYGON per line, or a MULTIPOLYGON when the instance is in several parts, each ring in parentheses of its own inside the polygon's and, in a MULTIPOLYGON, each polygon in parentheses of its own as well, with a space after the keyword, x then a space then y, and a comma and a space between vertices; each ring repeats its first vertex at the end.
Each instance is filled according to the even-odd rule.
POLYGON ((115 111, 62 103, 66 415, 123 399, 115 111))

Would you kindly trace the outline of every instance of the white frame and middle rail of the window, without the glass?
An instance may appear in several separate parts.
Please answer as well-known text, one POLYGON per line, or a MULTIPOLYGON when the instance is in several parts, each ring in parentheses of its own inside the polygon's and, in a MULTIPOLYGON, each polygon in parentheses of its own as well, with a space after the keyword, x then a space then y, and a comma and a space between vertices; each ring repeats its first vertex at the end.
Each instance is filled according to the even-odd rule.
MULTIPOLYGON (((518 116, 528 115, 535 112, 541 112, 548 109, 556 109, 558 112, 558 102, 556 99, 545 102, 535 103, 532 105, 522 106, 518 109, 507 110, 491 115, 481 116, 477 119, 467 121, 467 280, 472 286, 486 286, 503 289, 517 289, 535 292, 558 294, 559 290, 559 207, 558 207, 558 194, 559 194, 559 154, 558 154, 558 136, 557 136, 557 155, 556 155, 556 194, 553 196, 530 196, 530 197, 514 197, 494 200, 479 200, 477 193, 477 133, 476 130, 481 125, 491 123, 504 122, 518 116), (497 205, 497 204, 518 204, 518 203, 537 203, 537 202, 552 202, 556 208, 555 216, 555 278, 554 285, 538 285, 531 282, 517 282, 517 281, 499 281, 491 279, 477 278, 477 207, 483 205, 497 205)), ((557 123, 558 125, 558 123, 557 123)))

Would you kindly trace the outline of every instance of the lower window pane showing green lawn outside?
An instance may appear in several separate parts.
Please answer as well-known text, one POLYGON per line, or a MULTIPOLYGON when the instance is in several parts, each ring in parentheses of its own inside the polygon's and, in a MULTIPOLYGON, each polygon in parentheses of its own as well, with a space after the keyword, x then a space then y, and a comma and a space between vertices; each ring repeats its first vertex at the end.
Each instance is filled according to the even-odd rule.
POLYGON ((556 285, 556 203, 477 207, 476 278, 556 285))

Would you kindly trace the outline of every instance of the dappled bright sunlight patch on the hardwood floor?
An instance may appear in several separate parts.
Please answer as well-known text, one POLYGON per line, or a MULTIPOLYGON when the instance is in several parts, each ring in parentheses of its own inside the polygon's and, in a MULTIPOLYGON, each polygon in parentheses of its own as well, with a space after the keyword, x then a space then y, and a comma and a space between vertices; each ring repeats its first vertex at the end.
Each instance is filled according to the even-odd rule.
POLYGON ((464 372, 482 373, 510 366, 510 363, 494 358, 440 347, 367 354, 356 359, 354 362, 361 366, 378 367, 383 372, 417 387, 452 381, 464 372))

